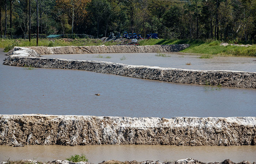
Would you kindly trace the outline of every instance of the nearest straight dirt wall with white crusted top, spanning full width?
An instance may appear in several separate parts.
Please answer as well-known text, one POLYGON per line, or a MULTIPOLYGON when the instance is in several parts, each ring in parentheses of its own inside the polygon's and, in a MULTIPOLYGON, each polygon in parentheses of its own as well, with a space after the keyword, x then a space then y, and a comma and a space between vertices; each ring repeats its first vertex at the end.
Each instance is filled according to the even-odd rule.
POLYGON ((256 117, 0 115, 0 144, 256 145, 256 117))

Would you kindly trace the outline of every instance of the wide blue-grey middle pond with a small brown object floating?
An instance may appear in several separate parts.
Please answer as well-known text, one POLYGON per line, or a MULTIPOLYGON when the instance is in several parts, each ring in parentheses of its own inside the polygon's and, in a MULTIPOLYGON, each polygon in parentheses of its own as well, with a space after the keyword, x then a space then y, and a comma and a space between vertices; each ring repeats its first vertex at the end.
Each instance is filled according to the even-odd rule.
POLYGON ((255 89, 212 90, 81 70, 0 65, 0 96, 0 114, 256 116, 255 89))

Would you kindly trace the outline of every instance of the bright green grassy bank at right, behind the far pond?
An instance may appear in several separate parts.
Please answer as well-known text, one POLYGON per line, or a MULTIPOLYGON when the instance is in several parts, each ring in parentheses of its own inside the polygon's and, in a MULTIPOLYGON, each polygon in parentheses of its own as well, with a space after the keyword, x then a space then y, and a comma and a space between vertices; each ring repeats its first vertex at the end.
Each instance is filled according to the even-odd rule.
POLYGON ((249 47, 238 46, 220 46, 221 41, 203 41, 203 40, 179 40, 179 39, 149 39, 140 41, 140 45, 154 44, 190 44, 191 46, 181 52, 199 53, 199 54, 221 54, 221 55, 239 55, 256 56, 256 44, 249 47))

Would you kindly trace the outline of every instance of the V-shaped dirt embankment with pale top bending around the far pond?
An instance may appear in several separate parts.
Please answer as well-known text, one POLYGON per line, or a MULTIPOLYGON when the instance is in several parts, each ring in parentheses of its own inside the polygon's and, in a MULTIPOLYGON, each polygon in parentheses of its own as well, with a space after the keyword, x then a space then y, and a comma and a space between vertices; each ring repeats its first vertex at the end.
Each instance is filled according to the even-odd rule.
POLYGON ((39 58, 39 54, 80 54, 115 52, 175 52, 187 44, 153 46, 67 46, 67 47, 14 47, 7 53, 4 65, 37 68, 76 69, 134 78, 224 87, 256 89, 256 73, 243 71, 204 71, 151 66, 124 65, 120 63, 39 58))

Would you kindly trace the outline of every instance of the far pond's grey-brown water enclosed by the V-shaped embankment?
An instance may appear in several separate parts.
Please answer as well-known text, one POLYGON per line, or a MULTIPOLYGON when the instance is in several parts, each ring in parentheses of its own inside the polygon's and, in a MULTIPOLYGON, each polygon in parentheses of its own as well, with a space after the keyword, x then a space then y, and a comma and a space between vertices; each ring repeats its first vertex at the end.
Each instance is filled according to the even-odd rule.
POLYGON ((193 70, 233 70, 256 72, 255 57, 213 56, 210 59, 200 59, 202 54, 191 53, 108 53, 108 54, 54 54, 42 55, 44 58, 62 58, 76 60, 100 60, 123 63, 127 65, 144 65, 171 67, 193 70), (191 65, 186 65, 191 63, 191 65))

